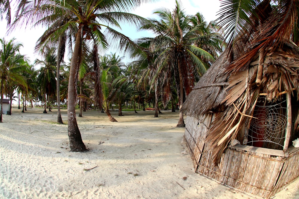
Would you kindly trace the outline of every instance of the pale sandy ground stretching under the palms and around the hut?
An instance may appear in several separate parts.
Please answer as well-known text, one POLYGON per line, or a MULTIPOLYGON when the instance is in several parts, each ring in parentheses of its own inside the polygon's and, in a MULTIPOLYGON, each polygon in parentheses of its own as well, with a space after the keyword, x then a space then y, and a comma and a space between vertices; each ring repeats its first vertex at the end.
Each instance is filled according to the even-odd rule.
MULTIPOLYGON (((178 112, 113 112, 117 123, 83 112, 77 122, 89 152, 74 153, 57 110, 42 111, 3 115, 0 198, 257 198, 194 172, 184 129, 175 128, 178 112)), ((298 182, 275 198, 298 199, 298 182)))

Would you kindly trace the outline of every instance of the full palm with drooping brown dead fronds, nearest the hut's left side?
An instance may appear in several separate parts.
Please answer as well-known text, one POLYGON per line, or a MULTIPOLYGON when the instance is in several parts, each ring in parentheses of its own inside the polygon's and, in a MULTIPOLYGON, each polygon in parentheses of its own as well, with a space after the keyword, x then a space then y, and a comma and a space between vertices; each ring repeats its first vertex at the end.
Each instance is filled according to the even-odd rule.
MULTIPOLYGON (((208 69, 209 63, 215 58, 200 45, 196 45, 202 39, 205 24, 195 23, 195 17, 187 16, 178 1, 172 12, 163 8, 154 13, 158 14, 161 20, 150 19, 151 22, 141 26, 140 29, 152 30, 157 36, 142 38, 139 43, 150 42, 149 50, 157 55, 152 76, 174 78, 181 108, 196 79, 208 69)), ((217 46, 220 42, 209 45, 211 44, 217 46)), ((177 127, 184 126, 183 112, 180 112, 177 127)))

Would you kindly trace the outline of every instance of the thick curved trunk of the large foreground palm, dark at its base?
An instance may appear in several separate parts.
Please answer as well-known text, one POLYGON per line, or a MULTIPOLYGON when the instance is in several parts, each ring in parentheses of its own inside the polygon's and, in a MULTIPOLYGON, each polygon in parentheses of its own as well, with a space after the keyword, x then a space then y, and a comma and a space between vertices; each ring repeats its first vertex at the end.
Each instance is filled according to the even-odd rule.
POLYGON ((68 81, 68 138, 70 141, 71 152, 84 152, 87 150, 82 141, 75 112, 75 75, 78 53, 80 50, 81 32, 83 33, 83 27, 79 28, 77 32, 68 81))

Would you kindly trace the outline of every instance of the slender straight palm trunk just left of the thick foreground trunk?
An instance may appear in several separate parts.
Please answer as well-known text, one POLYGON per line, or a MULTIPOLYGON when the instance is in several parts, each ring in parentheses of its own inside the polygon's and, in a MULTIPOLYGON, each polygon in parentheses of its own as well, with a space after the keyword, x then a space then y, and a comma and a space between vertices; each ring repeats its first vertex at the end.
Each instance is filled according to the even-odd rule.
POLYGON ((57 48, 57 82, 56 82, 56 91, 57 91, 57 122, 59 124, 63 124, 62 118, 61 118, 61 112, 60 112, 60 51, 62 46, 62 40, 63 37, 60 37, 58 48, 57 48))

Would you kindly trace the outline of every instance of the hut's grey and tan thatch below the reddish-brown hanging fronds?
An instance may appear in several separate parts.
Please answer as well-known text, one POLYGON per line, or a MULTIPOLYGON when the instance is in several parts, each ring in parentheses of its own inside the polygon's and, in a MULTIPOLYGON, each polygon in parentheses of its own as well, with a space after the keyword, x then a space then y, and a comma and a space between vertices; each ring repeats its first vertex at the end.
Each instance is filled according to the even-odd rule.
POLYGON ((268 100, 275 100, 286 92, 292 92, 299 99, 299 48, 295 44, 285 43, 276 50, 270 47, 265 52, 258 52, 239 71, 230 72, 230 67, 225 52, 203 75, 183 106, 187 115, 193 117, 225 107, 212 122, 205 140, 214 147, 215 161, 220 160, 222 152, 236 138, 246 119, 250 124, 260 93, 268 100), (261 56, 263 75, 259 85, 256 80, 261 56))

